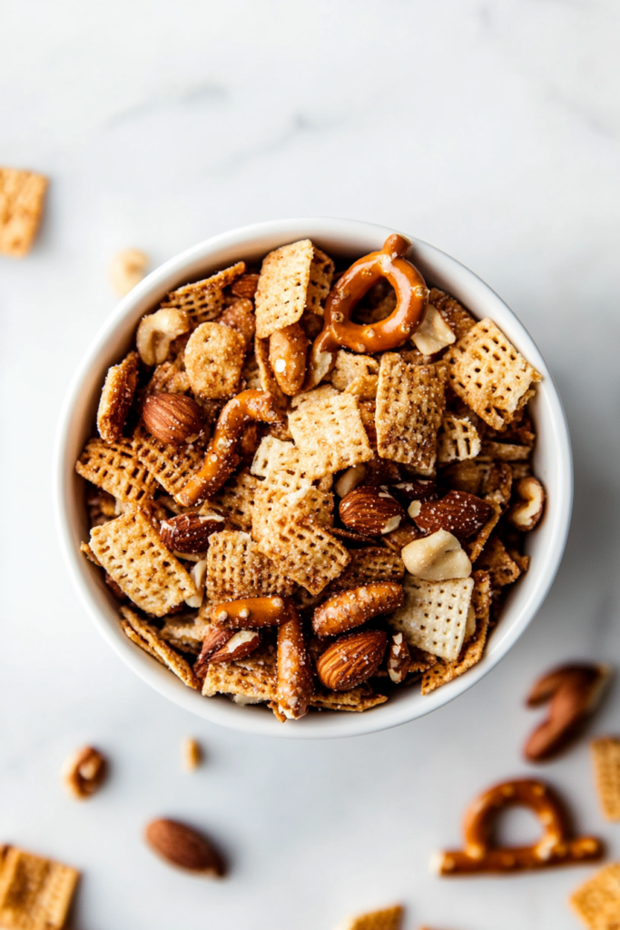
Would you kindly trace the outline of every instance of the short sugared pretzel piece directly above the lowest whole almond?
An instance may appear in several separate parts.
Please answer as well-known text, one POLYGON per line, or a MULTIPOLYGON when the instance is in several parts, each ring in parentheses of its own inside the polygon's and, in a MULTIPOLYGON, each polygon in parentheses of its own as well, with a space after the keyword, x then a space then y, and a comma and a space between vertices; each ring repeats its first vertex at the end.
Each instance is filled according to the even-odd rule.
POLYGON ((316 608, 312 630, 317 636, 337 636, 378 614, 389 614, 403 603, 402 587, 394 581, 342 591, 316 608))

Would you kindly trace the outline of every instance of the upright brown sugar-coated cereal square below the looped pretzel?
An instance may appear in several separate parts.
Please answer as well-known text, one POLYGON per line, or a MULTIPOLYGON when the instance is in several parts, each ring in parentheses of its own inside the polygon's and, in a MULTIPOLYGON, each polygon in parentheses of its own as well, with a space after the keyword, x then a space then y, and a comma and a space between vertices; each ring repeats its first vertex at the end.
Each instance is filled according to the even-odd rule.
POLYGON ((386 352, 376 392, 379 455, 432 472, 444 406, 443 380, 435 365, 411 365, 386 352))

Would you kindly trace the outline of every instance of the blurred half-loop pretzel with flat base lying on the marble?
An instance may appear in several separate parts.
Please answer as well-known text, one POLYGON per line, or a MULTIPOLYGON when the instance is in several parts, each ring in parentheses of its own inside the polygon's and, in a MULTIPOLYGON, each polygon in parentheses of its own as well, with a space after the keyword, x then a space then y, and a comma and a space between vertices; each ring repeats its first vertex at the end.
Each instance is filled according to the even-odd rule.
POLYGON ((483 794, 468 808, 463 825, 464 849, 440 853, 440 875, 469 875, 484 872, 514 872, 547 869, 549 866, 581 865, 603 854, 600 840, 593 836, 568 836, 560 798, 542 781, 521 778, 505 781, 483 794), (540 820, 543 835, 533 846, 491 845, 495 817, 508 805, 529 807, 540 820))

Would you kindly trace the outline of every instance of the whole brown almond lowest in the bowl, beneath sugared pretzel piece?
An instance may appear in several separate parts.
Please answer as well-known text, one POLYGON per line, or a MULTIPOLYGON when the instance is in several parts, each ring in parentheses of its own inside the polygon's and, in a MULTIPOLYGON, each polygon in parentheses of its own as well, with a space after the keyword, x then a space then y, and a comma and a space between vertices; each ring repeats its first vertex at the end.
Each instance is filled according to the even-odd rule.
POLYGON ((374 675, 386 651, 385 630, 363 630, 341 636, 323 652, 316 671, 326 688, 348 691, 374 675))

